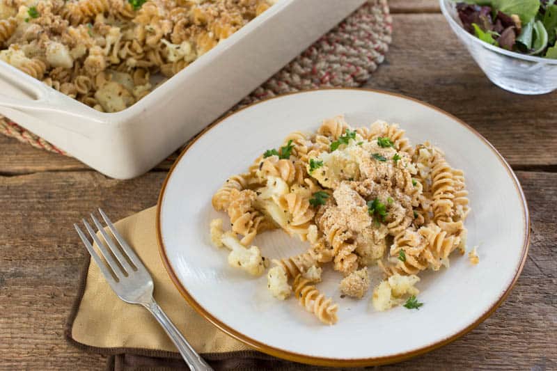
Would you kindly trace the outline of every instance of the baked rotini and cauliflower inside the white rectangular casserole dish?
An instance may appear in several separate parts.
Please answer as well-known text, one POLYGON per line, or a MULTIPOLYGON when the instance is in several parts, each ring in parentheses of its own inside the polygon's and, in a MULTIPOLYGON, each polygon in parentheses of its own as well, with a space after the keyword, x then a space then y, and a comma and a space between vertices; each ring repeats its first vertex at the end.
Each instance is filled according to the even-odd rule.
POLYGON ((0 61, 104 112, 131 106, 275 0, 1 0, 0 61), (160 79, 159 79, 160 80, 160 79))

